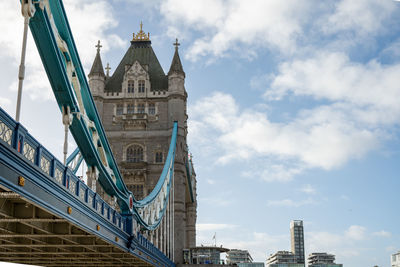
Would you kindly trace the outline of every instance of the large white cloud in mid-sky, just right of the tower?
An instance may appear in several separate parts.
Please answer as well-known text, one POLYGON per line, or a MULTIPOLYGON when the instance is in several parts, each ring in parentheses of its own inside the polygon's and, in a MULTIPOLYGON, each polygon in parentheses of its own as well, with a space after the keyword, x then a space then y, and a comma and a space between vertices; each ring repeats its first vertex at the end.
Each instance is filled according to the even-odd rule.
POLYGON ((231 95, 217 92, 200 99, 189 113, 191 142, 212 147, 217 163, 264 159, 268 164, 262 169, 242 174, 266 181, 288 181, 308 168, 341 166, 378 147, 381 137, 379 130, 349 120, 342 104, 302 110, 276 123, 263 112, 240 110, 231 95))

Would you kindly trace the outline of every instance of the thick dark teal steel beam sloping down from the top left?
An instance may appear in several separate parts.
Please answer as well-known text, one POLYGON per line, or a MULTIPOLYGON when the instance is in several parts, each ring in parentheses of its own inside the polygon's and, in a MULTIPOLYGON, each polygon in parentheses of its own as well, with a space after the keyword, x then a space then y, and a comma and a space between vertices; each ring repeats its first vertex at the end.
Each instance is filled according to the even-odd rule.
POLYGON ((121 210, 125 214, 132 213, 129 198, 132 194, 126 188, 121 174, 101 125, 97 110, 90 94, 85 74, 76 52, 76 46, 72 38, 65 10, 61 1, 49 1, 48 5, 35 4, 36 12, 30 19, 29 26, 36 46, 41 56, 47 76, 49 78, 54 95, 60 109, 70 108, 73 114, 71 133, 89 166, 96 167, 99 171, 99 182, 104 190, 111 196, 116 196, 121 210), (50 10, 47 10, 50 9, 50 10), (51 18, 56 28, 52 27, 51 18), (54 32, 57 31, 57 32, 54 32), (60 41, 60 39, 62 41, 60 41), (57 43, 58 42, 58 43, 57 43), (65 42, 68 51, 61 51, 59 43, 65 42), (67 65, 73 65, 73 77, 77 77, 79 85, 72 86, 71 77, 67 73, 67 65), (80 92, 84 108, 79 106, 76 91, 80 92), (94 129, 91 125, 94 124, 94 129), (93 143, 93 136, 99 137, 98 144, 93 143), (98 146, 102 147, 107 157, 107 164, 112 173, 104 166, 98 152, 98 146), (114 178, 114 179, 113 179, 114 178), (115 180, 115 182, 114 182, 115 180))

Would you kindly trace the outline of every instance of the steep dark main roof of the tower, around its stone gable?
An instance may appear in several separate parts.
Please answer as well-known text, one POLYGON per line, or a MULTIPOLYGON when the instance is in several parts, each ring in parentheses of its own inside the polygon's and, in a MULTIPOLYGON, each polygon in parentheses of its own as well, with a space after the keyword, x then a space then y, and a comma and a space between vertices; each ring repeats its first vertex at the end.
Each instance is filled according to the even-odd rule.
POLYGON ((133 65, 136 60, 142 66, 148 65, 151 91, 168 89, 168 78, 151 47, 151 41, 132 41, 115 72, 107 80, 106 92, 122 92, 121 86, 125 74, 125 66, 133 65))

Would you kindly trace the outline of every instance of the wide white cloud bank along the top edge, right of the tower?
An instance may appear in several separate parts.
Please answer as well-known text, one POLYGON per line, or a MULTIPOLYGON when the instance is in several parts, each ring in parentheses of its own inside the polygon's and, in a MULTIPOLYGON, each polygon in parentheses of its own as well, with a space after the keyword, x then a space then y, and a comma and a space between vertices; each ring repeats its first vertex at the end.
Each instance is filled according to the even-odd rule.
POLYGON ((321 36, 332 34, 336 40, 327 46, 363 45, 386 30, 395 10, 392 1, 379 0, 167 0, 160 7, 169 25, 167 34, 194 38, 186 54, 194 61, 210 55, 215 60, 232 52, 253 58, 265 48, 283 56, 302 54, 321 45, 321 36))

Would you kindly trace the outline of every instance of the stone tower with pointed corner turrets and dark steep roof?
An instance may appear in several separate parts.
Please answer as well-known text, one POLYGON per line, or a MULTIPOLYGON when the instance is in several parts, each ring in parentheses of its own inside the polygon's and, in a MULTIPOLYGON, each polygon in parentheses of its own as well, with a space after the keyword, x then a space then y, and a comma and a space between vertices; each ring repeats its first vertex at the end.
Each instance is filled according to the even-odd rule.
MULTIPOLYGON (((165 75, 150 40, 132 40, 112 76, 105 74, 97 50, 89 85, 108 141, 128 189, 136 199, 147 196, 164 166, 174 121, 178 138, 174 163, 174 261, 196 245, 196 176, 189 164, 185 73, 178 44, 168 75, 165 75), (188 166, 192 173, 189 184, 188 166), (192 201, 190 192, 193 192, 192 201)), ((191 163, 191 162, 190 162, 191 163)), ((88 181, 91 185, 92 181, 88 181)), ((97 191, 104 199, 111 198, 97 191)))

